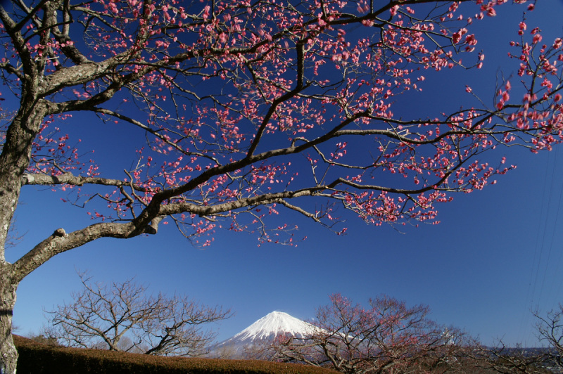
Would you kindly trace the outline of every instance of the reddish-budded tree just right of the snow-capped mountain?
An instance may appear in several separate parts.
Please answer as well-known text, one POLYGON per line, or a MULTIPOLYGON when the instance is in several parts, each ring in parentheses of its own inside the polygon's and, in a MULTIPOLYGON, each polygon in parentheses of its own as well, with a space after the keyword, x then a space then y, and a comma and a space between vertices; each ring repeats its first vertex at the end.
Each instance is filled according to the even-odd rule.
POLYGON ((332 295, 331 304, 317 311, 314 333, 278 340, 278 358, 341 373, 417 373, 455 366, 464 333, 437 325, 428 314, 425 305, 407 307, 387 296, 369 300, 364 309, 332 295))

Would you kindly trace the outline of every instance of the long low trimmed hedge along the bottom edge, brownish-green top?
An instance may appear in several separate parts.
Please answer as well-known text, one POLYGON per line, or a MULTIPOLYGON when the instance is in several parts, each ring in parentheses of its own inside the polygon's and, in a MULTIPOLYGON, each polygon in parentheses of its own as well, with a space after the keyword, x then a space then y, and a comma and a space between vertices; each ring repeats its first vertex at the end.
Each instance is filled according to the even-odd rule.
POLYGON ((18 348, 18 374, 331 374, 332 370, 295 363, 257 360, 223 360, 148 356, 106 351, 53 347, 13 335, 18 348))

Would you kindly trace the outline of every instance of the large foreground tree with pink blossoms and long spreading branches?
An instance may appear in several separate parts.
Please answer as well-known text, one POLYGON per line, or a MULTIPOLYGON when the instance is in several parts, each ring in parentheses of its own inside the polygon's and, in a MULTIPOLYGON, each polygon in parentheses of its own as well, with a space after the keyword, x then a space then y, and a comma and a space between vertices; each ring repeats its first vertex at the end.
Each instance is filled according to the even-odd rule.
POLYGON ((334 225, 336 207, 376 225, 433 221, 450 193, 510 169, 483 152, 550 149, 561 140, 562 40, 542 41, 524 22, 512 43, 523 94, 511 98, 515 82, 502 82, 491 108, 393 112, 425 70, 480 67, 472 30, 505 2, 4 2, 0 366, 15 371, 18 283, 61 252, 156 234, 163 219, 198 245, 220 227, 291 244, 294 227, 269 219, 283 210, 337 233, 346 228, 334 225), (103 174, 60 130, 88 112, 89 129, 115 122, 141 139, 122 177, 103 174), (57 228, 6 262, 20 191, 37 185, 64 190, 72 205, 100 200, 88 212, 97 221, 57 228))

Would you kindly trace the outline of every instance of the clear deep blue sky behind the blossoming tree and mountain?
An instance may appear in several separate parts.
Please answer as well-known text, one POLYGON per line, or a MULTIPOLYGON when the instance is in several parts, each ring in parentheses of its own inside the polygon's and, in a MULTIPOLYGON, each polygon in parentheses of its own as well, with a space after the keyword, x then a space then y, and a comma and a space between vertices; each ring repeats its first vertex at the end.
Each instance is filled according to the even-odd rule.
MULTIPOLYGON (((498 72, 510 75, 516 68, 505 56, 521 9, 501 6, 496 18, 474 30, 486 65, 472 75, 470 84, 489 101, 498 72)), ((540 26, 548 43, 563 34, 561 14, 563 1, 540 1, 529 14, 529 30, 540 26)), ((424 86, 425 95, 410 110, 431 108, 451 97, 467 98, 467 81, 460 74, 455 70, 436 75, 443 80, 434 85, 433 75, 426 75, 430 83, 424 86)), ((456 99, 445 105, 457 108, 461 103, 456 99)), ((122 138, 101 134, 98 124, 89 127, 89 133, 83 130, 83 143, 103 142, 96 148, 100 162, 104 153, 124 145, 122 138)), ((112 131, 106 126, 104 131, 112 131)), ((58 255, 23 280, 14 323, 20 334, 37 332, 46 321, 42 309, 69 301, 70 292, 80 290, 75 272, 79 269, 108 282, 136 276, 155 293, 177 292, 231 307, 236 316, 216 326, 220 340, 273 310, 312 318, 329 294, 341 292, 362 303, 385 293, 407 304, 429 304, 436 321, 464 328, 486 344, 503 338, 509 344, 535 345, 530 310, 545 312, 563 302, 563 149, 532 155, 499 148, 486 157, 496 161, 502 155, 518 168, 500 176, 495 186, 455 195, 453 202, 439 205, 441 224, 434 226, 401 226, 398 231, 350 217, 348 235, 336 236, 289 214, 286 221, 298 224, 300 234, 308 236, 297 247, 257 247, 253 236, 217 231, 213 245, 199 250, 172 225, 163 226, 157 236, 96 240, 58 255)), ((105 160, 122 161, 123 169, 134 158, 105 160)), ((48 188, 23 189, 16 217, 18 230, 27 234, 18 247, 8 250, 8 260, 58 227, 71 231, 91 223, 84 210, 60 198, 48 188)))

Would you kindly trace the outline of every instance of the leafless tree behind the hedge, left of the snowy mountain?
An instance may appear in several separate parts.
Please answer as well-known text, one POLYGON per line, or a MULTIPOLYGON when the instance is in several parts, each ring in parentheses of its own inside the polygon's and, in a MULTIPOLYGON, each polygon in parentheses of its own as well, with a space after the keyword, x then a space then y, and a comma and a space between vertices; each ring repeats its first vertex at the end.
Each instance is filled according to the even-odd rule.
POLYGON ((144 354, 200 356, 215 339, 203 325, 231 316, 185 296, 147 296, 134 279, 110 286, 80 274, 84 290, 74 302, 49 311, 49 336, 71 347, 105 348, 144 354))

